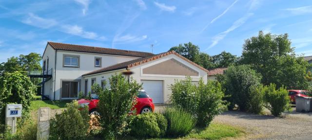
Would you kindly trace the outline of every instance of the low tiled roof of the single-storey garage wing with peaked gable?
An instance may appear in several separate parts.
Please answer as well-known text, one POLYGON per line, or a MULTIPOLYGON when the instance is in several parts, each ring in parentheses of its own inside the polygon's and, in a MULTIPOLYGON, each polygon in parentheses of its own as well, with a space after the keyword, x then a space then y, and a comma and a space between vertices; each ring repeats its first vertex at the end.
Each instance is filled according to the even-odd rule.
POLYGON ((135 67, 135 66, 138 66, 138 65, 141 65, 143 63, 150 62, 150 61, 154 61, 154 60, 156 60, 158 58, 161 58, 161 57, 164 57, 164 56, 167 56, 167 55, 170 55, 170 54, 175 54, 178 57, 182 58, 183 60, 185 60, 185 61, 195 65, 199 69, 204 70, 207 73, 209 72, 205 68, 200 67, 199 65, 197 65, 194 62, 192 62, 191 60, 183 57, 182 55, 176 53, 175 51, 169 51, 169 52, 159 53, 159 54, 155 54, 155 55, 144 57, 144 58, 138 58, 138 59, 127 61, 127 62, 123 62, 123 63, 118 63, 116 65, 108 66, 108 67, 105 67, 105 68, 102 68, 102 69, 99 69, 99 70, 94 70, 94 71, 91 71, 89 73, 85 73, 82 76, 87 76, 87 75, 92 75, 92 74, 97 74, 97 73, 102 73, 102 72, 107 72, 107 71, 112 71, 112 70, 129 69, 131 67, 135 67))

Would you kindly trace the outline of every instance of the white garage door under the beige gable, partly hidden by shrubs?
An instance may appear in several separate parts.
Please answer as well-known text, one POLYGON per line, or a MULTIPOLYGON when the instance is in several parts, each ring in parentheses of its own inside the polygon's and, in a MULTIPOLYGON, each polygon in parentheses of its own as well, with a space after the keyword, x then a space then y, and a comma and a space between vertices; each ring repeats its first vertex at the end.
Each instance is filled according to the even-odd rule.
POLYGON ((154 104, 163 104, 162 81, 141 80, 143 89, 153 99, 154 104))

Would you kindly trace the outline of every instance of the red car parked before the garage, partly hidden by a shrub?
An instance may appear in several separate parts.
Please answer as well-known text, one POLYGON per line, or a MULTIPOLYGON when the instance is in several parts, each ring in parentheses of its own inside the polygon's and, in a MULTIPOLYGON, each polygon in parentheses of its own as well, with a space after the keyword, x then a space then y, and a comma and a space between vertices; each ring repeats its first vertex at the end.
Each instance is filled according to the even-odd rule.
MULTIPOLYGON (((88 105, 89 114, 98 114, 97 111, 98 101, 99 101, 98 95, 93 95, 92 100, 80 99, 78 100, 78 104, 81 106, 88 105)), ((137 109, 137 114, 154 112, 153 99, 150 96, 148 96, 144 90, 139 91, 137 95, 137 104, 135 105, 135 108, 137 109)))

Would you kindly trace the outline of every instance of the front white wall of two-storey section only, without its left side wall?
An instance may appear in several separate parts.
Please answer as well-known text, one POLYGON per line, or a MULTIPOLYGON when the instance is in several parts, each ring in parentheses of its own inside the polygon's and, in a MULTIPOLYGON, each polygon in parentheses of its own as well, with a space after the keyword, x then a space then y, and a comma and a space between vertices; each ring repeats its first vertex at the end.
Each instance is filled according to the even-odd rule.
MULTIPOLYGON (((95 57, 102 58, 101 68, 138 58, 138 57, 115 56, 115 55, 105 55, 105 54, 95 54, 95 53, 76 53, 76 52, 58 51, 57 52, 57 66, 56 66, 57 73, 56 73, 56 83, 55 83, 56 84, 55 100, 60 100, 59 97, 60 97, 61 79, 81 80, 81 84, 79 85, 79 87, 81 91, 84 92, 84 79, 82 78, 81 75, 94 71, 94 70, 101 69, 101 68, 94 66, 95 57), (79 55, 80 56, 79 68, 63 67, 63 54, 79 55)), ((88 80, 88 82, 89 82, 88 86, 91 86, 91 79, 88 80)))

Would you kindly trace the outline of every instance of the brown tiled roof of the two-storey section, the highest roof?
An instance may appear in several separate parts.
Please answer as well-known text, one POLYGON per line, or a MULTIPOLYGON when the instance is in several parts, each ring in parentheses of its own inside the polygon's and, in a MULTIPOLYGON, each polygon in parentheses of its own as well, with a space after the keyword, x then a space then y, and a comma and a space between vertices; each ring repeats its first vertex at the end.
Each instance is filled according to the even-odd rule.
POLYGON ((100 54, 133 56, 133 57, 147 57, 147 56, 154 55, 153 53, 146 53, 146 52, 117 50, 117 49, 92 47, 92 46, 84 46, 84 45, 74 45, 74 44, 65 44, 65 43, 57 43, 57 42, 48 42, 48 44, 54 50, 62 50, 62 51, 83 52, 83 53, 100 53, 100 54))

